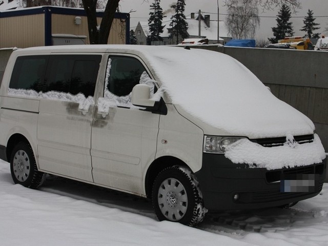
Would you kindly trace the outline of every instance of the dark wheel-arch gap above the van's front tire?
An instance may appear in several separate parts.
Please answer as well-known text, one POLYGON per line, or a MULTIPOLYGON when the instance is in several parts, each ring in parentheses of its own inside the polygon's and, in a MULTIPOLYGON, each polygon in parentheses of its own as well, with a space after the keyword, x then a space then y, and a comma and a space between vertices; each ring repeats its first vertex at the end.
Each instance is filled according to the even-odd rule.
POLYGON ((151 165, 147 170, 146 178, 145 178, 146 196, 148 198, 151 198, 152 196, 152 187, 157 175, 162 170, 168 167, 173 167, 175 165, 189 168, 184 161, 174 156, 161 156, 151 163, 151 165))

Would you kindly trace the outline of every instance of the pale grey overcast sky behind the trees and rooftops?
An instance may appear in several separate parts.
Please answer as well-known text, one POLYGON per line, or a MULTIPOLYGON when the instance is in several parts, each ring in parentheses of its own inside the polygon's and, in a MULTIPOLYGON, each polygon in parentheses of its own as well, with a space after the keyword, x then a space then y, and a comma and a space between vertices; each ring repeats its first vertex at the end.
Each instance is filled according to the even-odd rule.
MULTIPOLYGON (((171 16, 168 11, 170 11, 170 5, 175 3, 174 0, 161 0, 160 5, 166 15, 171 16)), ((130 12, 130 10, 136 11, 131 13, 131 29, 134 29, 139 21, 148 21, 149 17, 149 6, 153 3, 153 0, 144 1, 144 0, 121 0, 120 6, 122 12, 130 12)), ((313 10, 314 16, 316 17, 315 22, 320 24, 320 29, 318 32, 324 32, 325 27, 328 27, 328 0, 301 0, 302 9, 298 9, 298 13, 292 14, 291 22, 293 22, 293 28, 295 35, 304 35, 305 33, 299 31, 302 28, 304 16, 309 9, 313 10), (326 16, 326 17, 319 17, 326 16)), ((186 11, 185 15, 190 17, 191 12, 197 12, 198 10, 202 12, 207 12, 203 14, 210 14, 211 19, 217 20, 217 0, 186 0, 186 11)), ((226 18, 227 13, 226 8, 223 7, 223 0, 219 0, 219 13, 220 20, 226 18)), ((279 9, 272 11, 265 10, 259 6, 260 16, 269 16, 261 17, 260 28, 256 32, 256 38, 267 38, 273 37, 271 28, 277 26, 276 15, 278 14, 279 9), (270 17, 273 16, 273 17, 270 17)))

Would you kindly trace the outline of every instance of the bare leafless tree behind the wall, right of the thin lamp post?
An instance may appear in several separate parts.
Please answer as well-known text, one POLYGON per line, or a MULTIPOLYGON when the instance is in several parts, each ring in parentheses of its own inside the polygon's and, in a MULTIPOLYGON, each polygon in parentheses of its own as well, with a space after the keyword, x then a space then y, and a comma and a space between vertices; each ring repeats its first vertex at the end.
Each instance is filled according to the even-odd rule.
POLYGON ((233 38, 253 38, 260 25, 258 8, 254 0, 230 1, 226 25, 233 38))

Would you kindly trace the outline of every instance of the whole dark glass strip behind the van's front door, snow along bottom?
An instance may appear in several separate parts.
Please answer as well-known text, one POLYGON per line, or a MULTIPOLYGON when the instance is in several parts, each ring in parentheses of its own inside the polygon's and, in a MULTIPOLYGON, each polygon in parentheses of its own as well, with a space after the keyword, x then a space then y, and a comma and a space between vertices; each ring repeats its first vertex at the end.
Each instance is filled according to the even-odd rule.
POLYGON ((9 87, 93 96, 101 55, 21 56, 9 87))

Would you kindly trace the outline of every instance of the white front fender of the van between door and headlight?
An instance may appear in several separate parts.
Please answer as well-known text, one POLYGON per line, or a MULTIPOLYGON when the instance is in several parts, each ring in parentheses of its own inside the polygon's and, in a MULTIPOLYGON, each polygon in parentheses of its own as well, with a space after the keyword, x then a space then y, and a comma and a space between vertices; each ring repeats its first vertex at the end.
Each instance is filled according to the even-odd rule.
POLYGON ((203 131, 180 115, 173 105, 167 104, 167 108, 168 114, 160 116, 156 159, 177 157, 197 172, 202 163, 203 131))

